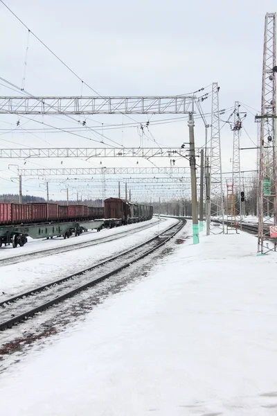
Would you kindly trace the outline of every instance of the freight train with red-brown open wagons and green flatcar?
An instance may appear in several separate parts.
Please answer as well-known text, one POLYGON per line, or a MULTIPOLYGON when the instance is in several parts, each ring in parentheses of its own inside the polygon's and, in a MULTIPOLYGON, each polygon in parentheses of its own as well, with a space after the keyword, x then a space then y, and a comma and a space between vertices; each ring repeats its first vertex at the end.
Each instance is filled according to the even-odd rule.
POLYGON ((27 236, 33 239, 80 235, 88 229, 118 227, 150 220, 153 207, 135 204, 120 198, 108 198, 104 207, 58 205, 48 202, 14 204, 0 202, 0 247, 24 245, 27 236))

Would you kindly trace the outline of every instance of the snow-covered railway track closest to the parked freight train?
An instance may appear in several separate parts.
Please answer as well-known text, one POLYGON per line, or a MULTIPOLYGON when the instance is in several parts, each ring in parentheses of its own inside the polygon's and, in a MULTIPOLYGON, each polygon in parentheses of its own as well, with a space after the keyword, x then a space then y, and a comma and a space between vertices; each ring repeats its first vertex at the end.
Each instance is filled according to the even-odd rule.
POLYGON ((60 254, 64 252, 69 252, 71 250, 75 250, 76 248, 87 248, 91 247, 92 245, 98 245, 102 243, 107 243, 108 241, 114 241, 118 239, 122 239, 125 236, 136 234, 136 232, 143 231, 144 229, 148 229, 150 227, 154 227, 157 223, 152 223, 148 225, 142 225, 141 227, 137 227, 133 230, 123 231, 114 236, 103 236, 93 241, 84 241, 83 243, 73 243, 70 245, 56 247, 56 248, 47 248, 46 250, 40 250, 38 252, 30 252, 19 254, 18 256, 6 257, 6 259, 0 259, 0 266, 8 266, 10 264, 21 263, 23 261, 28 261, 32 259, 39 259, 40 257, 47 257, 52 256, 53 254, 60 254))

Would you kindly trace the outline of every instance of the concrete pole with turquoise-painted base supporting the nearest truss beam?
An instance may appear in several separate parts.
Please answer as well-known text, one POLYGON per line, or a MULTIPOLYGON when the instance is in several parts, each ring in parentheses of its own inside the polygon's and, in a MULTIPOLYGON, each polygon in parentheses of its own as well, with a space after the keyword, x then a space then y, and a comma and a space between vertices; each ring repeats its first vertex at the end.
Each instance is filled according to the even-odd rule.
POLYGON ((188 130, 190 137, 190 181, 191 181, 191 202, 193 209, 193 244, 199 243, 199 227, 197 213, 197 188, 196 188, 196 166, 195 166, 195 134, 194 134, 193 113, 188 115, 188 130))

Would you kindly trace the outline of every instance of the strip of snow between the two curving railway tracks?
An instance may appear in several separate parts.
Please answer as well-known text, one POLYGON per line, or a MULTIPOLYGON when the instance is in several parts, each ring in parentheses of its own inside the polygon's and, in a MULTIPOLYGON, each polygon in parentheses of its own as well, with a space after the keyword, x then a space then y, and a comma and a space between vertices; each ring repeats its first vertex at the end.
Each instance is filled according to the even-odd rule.
MULTIPOLYGON (((79 270, 89 268, 102 259, 143 243, 175 223, 177 223, 177 220, 172 218, 162 221, 156 220, 153 227, 143 229, 136 232, 136 234, 124 236, 122 239, 100 243, 87 248, 76 248, 71 252, 53 254, 50 257, 40 257, 39 259, 30 259, 22 263, 1 266, 0 300, 6 300, 6 298, 17 293, 28 291, 49 281, 54 281, 79 270)), ((120 229, 124 229, 126 232, 127 227, 134 229, 132 225, 120 227, 120 229)), ((118 229, 119 227, 109 230, 109 235, 118 234, 118 229)), ((99 234, 97 233, 96 235, 99 236, 99 234)))

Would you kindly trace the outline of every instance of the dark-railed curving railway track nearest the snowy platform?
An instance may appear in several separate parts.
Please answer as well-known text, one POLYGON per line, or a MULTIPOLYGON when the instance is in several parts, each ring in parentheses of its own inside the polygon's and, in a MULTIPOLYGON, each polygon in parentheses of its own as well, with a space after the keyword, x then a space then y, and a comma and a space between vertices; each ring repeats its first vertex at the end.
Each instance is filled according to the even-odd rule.
POLYGON ((85 270, 80 270, 73 275, 33 288, 26 293, 21 293, 0 302, 0 330, 11 328, 36 313, 45 311, 54 304, 98 284, 100 281, 127 268, 132 263, 143 259, 172 239, 185 224, 186 220, 179 220, 179 223, 171 225, 168 229, 130 250, 125 250, 108 260, 85 270))

